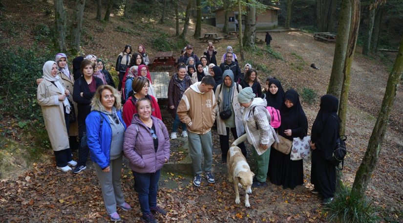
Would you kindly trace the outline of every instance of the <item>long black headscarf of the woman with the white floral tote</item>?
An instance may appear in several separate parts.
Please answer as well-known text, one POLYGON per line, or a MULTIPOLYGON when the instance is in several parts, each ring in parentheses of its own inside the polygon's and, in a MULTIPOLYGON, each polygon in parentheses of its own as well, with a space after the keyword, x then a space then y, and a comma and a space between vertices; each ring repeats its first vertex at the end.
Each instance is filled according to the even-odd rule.
POLYGON ((308 132, 308 120, 305 112, 302 110, 301 103, 299 102, 299 96, 295 89, 289 89, 284 94, 284 100, 280 108, 281 126, 278 127, 278 134, 281 136, 293 140, 293 137, 300 137, 301 139, 306 136, 308 132), (285 100, 293 102, 291 108, 287 108, 284 104, 285 100), (285 130, 298 129, 293 136, 287 136, 284 134, 285 130))

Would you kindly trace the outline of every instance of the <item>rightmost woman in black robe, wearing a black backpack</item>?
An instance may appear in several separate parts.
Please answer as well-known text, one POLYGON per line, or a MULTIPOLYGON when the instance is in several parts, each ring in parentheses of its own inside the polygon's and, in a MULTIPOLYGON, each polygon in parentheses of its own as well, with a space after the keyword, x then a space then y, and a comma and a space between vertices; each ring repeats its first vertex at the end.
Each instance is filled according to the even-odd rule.
POLYGON ((311 133, 312 166, 311 183, 314 184, 312 193, 321 193, 324 203, 331 201, 336 190, 336 168, 326 161, 336 147, 339 133, 339 116, 337 110, 339 100, 325 94, 320 98, 320 109, 316 116, 311 133))

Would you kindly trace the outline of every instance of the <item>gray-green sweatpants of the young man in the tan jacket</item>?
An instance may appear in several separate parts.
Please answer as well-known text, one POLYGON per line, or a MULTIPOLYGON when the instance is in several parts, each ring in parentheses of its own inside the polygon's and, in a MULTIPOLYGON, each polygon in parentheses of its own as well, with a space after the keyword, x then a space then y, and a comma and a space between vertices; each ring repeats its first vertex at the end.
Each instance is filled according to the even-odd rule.
POLYGON ((188 132, 189 153, 194 174, 201 174, 201 157, 204 155, 204 171, 212 171, 212 131, 207 134, 188 132))

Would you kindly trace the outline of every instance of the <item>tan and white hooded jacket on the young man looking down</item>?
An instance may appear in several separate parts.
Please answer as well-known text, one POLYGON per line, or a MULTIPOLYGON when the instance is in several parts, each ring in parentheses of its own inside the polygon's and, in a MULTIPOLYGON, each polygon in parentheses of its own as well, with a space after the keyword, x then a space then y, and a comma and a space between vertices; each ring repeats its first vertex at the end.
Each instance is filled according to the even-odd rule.
POLYGON ((176 113, 181 122, 188 126, 188 131, 195 134, 210 132, 215 120, 214 92, 200 92, 197 82, 185 91, 176 113))

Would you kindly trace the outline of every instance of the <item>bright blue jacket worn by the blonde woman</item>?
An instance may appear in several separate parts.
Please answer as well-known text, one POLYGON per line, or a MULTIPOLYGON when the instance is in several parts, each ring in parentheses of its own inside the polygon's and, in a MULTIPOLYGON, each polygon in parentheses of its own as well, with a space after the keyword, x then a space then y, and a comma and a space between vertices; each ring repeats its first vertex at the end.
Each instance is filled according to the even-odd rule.
MULTIPOLYGON (((117 111, 117 115, 126 129, 122 112, 117 111)), ((110 128, 109 118, 105 113, 91 111, 85 119, 85 125, 91 160, 97 163, 101 169, 105 169, 110 163, 110 144, 112 141, 112 129, 110 128), (102 127, 101 115, 104 117, 102 127)))

